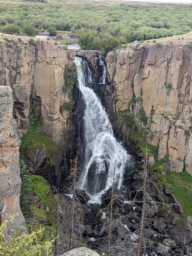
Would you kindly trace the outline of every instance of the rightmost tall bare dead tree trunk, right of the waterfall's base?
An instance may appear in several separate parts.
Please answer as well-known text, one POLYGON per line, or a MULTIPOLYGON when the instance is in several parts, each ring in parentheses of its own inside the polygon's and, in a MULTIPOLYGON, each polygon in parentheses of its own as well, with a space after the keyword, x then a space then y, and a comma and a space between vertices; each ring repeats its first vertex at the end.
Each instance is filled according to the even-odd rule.
POLYGON ((141 220, 139 225, 139 237, 138 237, 138 247, 137 247, 137 256, 140 256, 141 251, 141 241, 143 236, 143 224, 145 219, 145 211, 146 211, 146 184, 147 184, 147 156, 146 160, 144 160, 144 180, 143 180, 143 200, 142 200, 142 211, 141 211, 141 220))

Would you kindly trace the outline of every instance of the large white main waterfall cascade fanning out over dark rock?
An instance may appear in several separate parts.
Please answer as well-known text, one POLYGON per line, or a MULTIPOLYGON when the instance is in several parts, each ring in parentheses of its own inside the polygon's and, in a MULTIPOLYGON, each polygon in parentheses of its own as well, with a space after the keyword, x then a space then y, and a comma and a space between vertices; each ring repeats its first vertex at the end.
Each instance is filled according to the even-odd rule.
MULTIPOLYGON (((79 188, 84 189, 91 200, 98 202, 100 195, 113 183, 120 188, 124 168, 130 156, 117 142, 112 125, 100 99, 87 87, 91 83, 91 73, 85 60, 75 57, 78 86, 85 102, 84 123, 84 164, 80 175, 79 188)), ((102 76, 103 77, 103 76, 102 76)))

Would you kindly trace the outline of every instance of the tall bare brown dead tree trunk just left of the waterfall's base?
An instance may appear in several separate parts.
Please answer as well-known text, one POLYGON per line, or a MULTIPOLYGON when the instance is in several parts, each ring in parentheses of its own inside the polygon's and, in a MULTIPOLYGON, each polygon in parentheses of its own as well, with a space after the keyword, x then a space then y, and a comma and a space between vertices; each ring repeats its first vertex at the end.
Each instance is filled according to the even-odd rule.
POLYGON ((74 226, 74 215, 75 215, 76 171, 77 171, 77 157, 75 157, 74 164, 73 164, 73 199, 72 199, 72 214, 71 214, 71 230, 70 230, 69 250, 73 249, 73 226, 74 226))

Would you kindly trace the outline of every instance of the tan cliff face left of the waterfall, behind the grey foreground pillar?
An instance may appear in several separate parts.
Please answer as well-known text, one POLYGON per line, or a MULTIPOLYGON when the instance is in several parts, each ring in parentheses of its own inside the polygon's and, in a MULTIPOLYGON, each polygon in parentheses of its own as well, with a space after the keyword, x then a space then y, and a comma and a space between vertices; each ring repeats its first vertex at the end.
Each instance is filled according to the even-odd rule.
POLYGON ((68 93, 62 92, 64 72, 66 66, 73 63, 76 51, 54 41, 35 39, 30 45, 26 38, 15 37, 14 40, 11 48, 0 47, 0 84, 12 88, 13 116, 19 138, 28 131, 32 112, 41 119, 47 139, 56 144, 57 149, 50 152, 54 166, 47 162, 45 148, 39 146, 30 152, 25 149, 27 167, 51 184, 60 185, 64 172, 69 169, 69 158, 74 153, 69 150, 70 140, 75 140, 74 122, 68 121, 71 112, 61 110, 60 106, 69 102, 68 93), (67 130, 69 138, 66 137, 67 130))

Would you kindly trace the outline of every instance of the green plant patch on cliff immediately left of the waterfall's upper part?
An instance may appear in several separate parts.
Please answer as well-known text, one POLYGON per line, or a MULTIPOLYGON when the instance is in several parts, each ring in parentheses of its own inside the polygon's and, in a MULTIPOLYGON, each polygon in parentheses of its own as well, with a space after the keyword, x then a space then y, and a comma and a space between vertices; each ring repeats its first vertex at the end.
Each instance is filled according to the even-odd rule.
POLYGON ((76 72, 76 66, 73 63, 73 65, 67 65, 65 67, 65 84, 62 87, 62 91, 64 93, 68 92, 71 93, 73 91, 74 85, 77 80, 77 72, 76 72))

